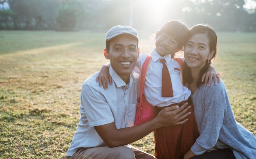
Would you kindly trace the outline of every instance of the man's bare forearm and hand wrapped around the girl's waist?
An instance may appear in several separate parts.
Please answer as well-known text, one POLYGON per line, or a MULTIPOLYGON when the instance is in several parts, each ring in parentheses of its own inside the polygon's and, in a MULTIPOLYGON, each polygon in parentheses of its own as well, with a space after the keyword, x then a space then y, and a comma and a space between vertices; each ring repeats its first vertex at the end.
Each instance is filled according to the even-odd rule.
POLYGON ((181 107, 166 107, 153 120, 141 125, 117 129, 115 123, 112 122, 95 126, 94 129, 109 147, 124 146, 145 137, 157 128, 185 123, 188 120, 186 117, 191 114, 187 112, 190 108, 187 105, 185 103, 181 107))

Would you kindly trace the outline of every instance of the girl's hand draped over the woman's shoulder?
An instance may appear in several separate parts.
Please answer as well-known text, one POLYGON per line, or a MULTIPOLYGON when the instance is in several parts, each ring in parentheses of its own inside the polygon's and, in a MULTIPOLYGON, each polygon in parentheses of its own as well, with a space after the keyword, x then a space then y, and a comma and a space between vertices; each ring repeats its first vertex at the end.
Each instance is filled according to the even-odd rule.
POLYGON ((218 79, 218 82, 220 83, 220 77, 218 76, 218 73, 216 72, 216 69, 213 66, 208 67, 207 72, 205 72, 203 74, 202 82, 204 81, 205 86, 207 85, 207 82, 208 82, 208 86, 210 87, 212 78, 214 80, 214 85, 217 85, 216 78, 218 79))

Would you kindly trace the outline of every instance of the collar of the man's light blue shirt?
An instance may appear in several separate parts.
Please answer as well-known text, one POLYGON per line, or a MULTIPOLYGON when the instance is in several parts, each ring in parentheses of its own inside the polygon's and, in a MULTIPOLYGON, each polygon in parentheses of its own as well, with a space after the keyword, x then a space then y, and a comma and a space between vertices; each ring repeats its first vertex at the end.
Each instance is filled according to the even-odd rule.
POLYGON ((133 83, 133 79, 132 79, 132 76, 130 74, 129 83, 128 83, 128 85, 126 85, 124 80, 115 72, 115 70, 111 67, 111 65, 109 67, 109 74, 112 77, 112 80, 114 81, 114 83, 117 85, 117 87, 123 87, 123 86, 130 87, 133 83))

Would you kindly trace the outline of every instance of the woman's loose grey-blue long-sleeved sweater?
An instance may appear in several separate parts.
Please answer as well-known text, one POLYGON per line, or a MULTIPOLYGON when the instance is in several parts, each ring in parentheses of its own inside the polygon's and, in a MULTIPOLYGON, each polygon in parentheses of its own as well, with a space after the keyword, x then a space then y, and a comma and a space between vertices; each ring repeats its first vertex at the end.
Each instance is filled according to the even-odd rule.
POLYGON ((195 155, 231 148, 237 159, 256 159, 256 138, 236 122, 223 81, 201 85, 191 96, 200 134, 191 147, 195 155))

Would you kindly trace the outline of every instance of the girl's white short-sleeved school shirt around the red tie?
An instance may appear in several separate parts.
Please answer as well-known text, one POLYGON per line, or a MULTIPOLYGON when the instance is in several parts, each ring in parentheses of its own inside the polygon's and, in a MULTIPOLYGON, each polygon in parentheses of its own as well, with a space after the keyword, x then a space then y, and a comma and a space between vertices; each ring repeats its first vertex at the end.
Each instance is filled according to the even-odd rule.
MULTIPOLYGON (((147 55, 148 54, 145 53, 139 54, 137 65, 134 69, 138 74, 141 73, 142 65, 147 55)), ((191 91, 182 85, 180 65, 175 60, 171 59, 170 54, 160 56, 155 49, 152 50, 151 57, 152 60, 148 67, 144 86, 144 95, 147 101, 153 106, 164 107, 187 100, 191 91), (171 76, 173 97, 162 97, 163 64, 159 61, 162 58, 166 60, 166 65, 171 76)))

